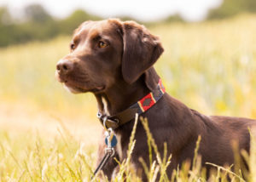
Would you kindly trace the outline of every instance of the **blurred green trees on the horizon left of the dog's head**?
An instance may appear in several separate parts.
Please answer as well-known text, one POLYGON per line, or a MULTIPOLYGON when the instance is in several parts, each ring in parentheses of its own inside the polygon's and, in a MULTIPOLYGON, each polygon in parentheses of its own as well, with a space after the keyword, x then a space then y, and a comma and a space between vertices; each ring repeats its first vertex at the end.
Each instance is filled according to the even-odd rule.
POLYGON ((84 20, 101 19, 78 9, 66 19, 58 20, 41 5, 32 4, 24 9, 24 17, 21 20, 14 20, 8 9, 3 7, 0 8, 0 47, 71 34, 84 20))

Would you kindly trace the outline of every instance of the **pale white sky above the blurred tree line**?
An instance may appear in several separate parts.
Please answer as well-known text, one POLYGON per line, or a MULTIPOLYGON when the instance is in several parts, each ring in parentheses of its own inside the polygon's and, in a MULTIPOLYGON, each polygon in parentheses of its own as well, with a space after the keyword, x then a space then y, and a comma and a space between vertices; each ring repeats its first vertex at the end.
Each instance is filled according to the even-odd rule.
POLYGON ((39 3, 50 14, 64 18, 75 9, 100 15, 104 18, 127 15, 137 20, 159 20, 170 14, 181 14, 185 20, 203 20, 207 10, 217 7, 222 0, 0 0, 11 14, 20 16, 21 9, 39 3))

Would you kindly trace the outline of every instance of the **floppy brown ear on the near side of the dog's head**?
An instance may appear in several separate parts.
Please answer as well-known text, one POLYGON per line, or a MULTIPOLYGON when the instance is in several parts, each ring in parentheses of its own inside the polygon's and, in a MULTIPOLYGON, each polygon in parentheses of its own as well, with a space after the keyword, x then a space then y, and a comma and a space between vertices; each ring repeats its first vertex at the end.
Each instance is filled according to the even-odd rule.
POLYGON ((158 37, 134 21, 123 23, 124 52, 122 74, 125 82, 135 82, 163 53, 158 37))

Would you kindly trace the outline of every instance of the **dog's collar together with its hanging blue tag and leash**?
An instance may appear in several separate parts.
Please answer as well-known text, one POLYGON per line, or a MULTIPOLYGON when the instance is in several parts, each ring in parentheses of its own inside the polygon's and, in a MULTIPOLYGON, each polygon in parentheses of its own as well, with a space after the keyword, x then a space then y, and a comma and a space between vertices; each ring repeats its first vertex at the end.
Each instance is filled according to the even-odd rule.
POLYGON ((113 129, 119 128, 119 126, 125 124, 126 122, 130 122, 134 119, 136 113, 138 115, 142 114, 145 111, 148 111, 160 98, 166 93, 166 89, 164 88, 161 80, 159 80, 157 84, 157 88, 143 97, 143 99, 138 100, 137 103, 131 105, 125 111, 121 111, 118 115, 115 116, 107 116, 103 115, 101 112, 97 113, 97 117, 102 122, 103 128, 105 129, 105 144, 107 147, 105 148, 105 155, 102 158, 102 161, 99 163, 96 168, 91 180, 93 180, 97 173, 104 168, 108 160, 114 155, 113 147, 117 145, 117 139, 115 134, 113 134, 113 129))

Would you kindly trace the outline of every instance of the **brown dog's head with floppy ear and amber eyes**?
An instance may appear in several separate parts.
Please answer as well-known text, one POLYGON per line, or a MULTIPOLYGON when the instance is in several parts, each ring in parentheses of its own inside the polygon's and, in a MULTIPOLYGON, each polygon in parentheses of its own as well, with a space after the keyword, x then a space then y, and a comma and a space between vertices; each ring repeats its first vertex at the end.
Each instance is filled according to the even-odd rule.
POLYGON ((85 21, 74 31, 70 49, 56 65, 55 76, 73 93, 132 84, 164 50, 144 26, 120 20, 85 21))

